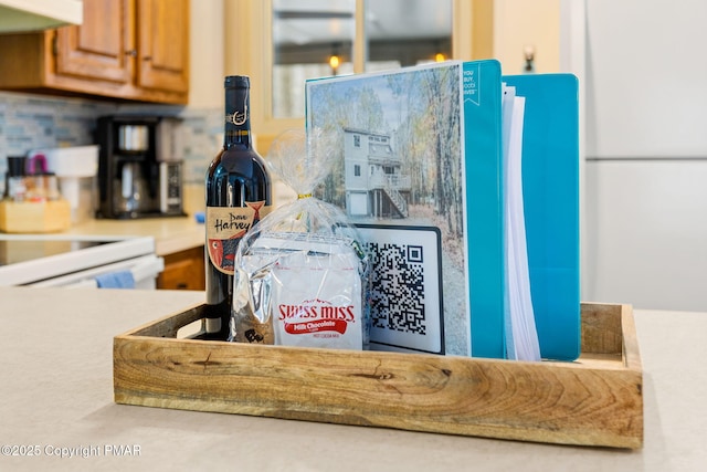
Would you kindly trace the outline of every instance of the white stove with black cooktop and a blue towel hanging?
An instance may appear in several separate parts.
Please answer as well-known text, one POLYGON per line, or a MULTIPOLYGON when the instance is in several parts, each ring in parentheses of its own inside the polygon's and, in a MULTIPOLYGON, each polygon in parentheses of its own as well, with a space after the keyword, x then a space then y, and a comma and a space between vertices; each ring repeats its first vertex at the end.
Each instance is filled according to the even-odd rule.
POLYGON ((98 287, 116 275, 130 283, 107 286, 154 290, 163 269, 152 238, 0 234, 0 286, 98 287))

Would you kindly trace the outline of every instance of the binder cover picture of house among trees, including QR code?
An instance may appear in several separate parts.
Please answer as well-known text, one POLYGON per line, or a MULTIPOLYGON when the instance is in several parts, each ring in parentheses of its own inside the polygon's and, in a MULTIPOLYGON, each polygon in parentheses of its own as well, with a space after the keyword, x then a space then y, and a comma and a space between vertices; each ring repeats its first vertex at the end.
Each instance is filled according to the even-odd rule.
POLYGON ((331 172, 315 196, 367 227, 381 274, 390 264, 404 268, 394 279, 374 276, 371 343, 380 340, 381 327, 390 334, 378 332, 384 339, 408 337, 395 347, 457 355, 471 349, 461 69, 425 64, 306 85, 308 133, 329 137, 331 172), (403 232, 390 239, 391 227, 403 232))

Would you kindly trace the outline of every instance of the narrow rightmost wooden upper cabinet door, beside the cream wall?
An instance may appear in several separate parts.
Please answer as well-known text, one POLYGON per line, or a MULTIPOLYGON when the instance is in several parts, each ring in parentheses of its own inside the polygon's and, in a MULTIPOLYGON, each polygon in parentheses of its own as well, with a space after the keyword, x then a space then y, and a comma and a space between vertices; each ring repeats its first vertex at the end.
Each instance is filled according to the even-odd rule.
POLYGON ((189 90, 189 0, 138 0, 137 85, 189 90))

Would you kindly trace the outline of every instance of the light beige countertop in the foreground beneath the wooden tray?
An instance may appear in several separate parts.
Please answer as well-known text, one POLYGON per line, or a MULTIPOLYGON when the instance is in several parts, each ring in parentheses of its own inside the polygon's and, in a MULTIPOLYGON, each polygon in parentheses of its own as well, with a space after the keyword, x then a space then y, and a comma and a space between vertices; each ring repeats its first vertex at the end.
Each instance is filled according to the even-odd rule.
POLYGON ((114 403, 113 336, 203 297, 1 287, 0 469, 664 472, 707 464, 707 313, 635 312, 645 443, 626 451, 114 403), (39 457, 8 457, 8 445, 39 457))

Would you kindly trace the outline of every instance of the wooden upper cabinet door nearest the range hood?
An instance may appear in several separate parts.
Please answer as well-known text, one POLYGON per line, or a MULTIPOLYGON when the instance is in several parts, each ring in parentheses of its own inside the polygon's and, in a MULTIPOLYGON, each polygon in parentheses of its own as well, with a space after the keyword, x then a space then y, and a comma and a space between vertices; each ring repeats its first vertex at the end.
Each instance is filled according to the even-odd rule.
POLYGON ((81 27, 56 32, 56 73, 129 83, 135 32, 133 0, 84 0, 81 27))

